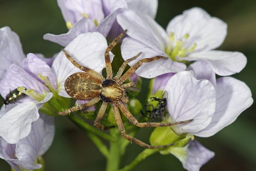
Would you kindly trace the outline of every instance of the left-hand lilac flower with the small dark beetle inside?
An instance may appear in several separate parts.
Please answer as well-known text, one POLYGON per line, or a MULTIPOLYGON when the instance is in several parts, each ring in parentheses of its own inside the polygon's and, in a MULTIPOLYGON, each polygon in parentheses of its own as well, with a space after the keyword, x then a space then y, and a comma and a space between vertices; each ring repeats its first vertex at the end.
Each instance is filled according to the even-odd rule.
POLYGON ((29 53, 27 58, 23 59, 22 67, 12 64, 0 82, 0 93, 4 98, 10 90, 17 87, 34 90, 28 97, 12 105, 9 111, 3 109, 4 106, 1 109, 0 136, 12 144, 29 135, 32 122, 39 118, 38 110, 52 98, 53 94, 49 92, 43 80, 39 79, 38 74, 46 76, 52 88, 56 88, 56 79, 51 68, 34 54, 29 53))

